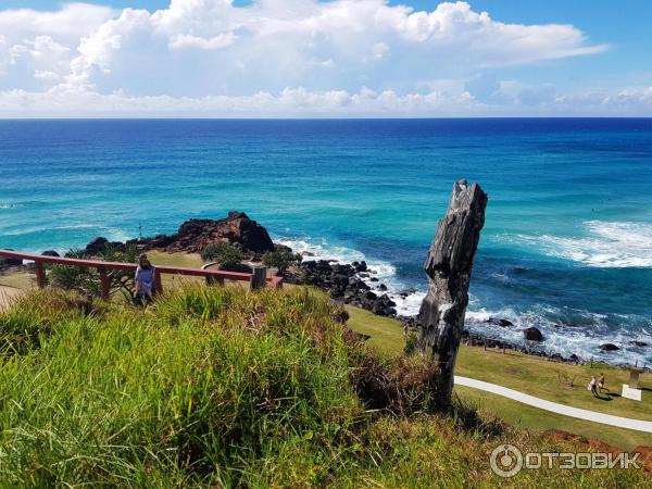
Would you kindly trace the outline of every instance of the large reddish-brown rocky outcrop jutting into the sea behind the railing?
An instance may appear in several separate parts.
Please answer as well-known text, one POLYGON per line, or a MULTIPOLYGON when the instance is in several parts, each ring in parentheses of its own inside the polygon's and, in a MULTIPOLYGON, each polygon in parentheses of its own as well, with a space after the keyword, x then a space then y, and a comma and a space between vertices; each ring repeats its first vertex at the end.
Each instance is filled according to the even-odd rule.
POLYGON ((267 230, 243 212, 233 211, 223 220, 190 220, 172 237, 168 251, 200 252, 213 242, 228 242, 244 251, 274 251, 267 230))

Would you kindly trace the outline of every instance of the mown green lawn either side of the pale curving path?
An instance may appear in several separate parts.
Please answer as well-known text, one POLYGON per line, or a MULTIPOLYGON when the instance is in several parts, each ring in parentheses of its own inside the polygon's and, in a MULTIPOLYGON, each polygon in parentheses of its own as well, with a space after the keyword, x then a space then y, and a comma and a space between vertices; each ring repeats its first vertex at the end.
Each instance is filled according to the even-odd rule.
MULTIPOLYGON (((369 335, 369 343, 389 354, 400 354, 403 349, 403 330, 399 322, 378 317, 353 306, 347 306, 350 314, 349 326, 359 333, 369 335)), ((485 350, 480 347, 462 346, 455 365, 455 374, 509 387, 553 402, 582 408, 618 416, 652 419, 652 402, 648 392, 643 401, 637 402, 620 397, 611 401, 597 400, 587 391, 586 384, 591 375, 604 373, 606 386, 617 392, 618 387, 628 380, 628 373, 604 364, 573 365, 553 362, 538 356, 502 350, 485 350), (560 384, 560 375, 575 377, 576 387, 560 384)), ((652 387, 650 374, 642 374, 640 385, 652 387)), ((488 413, 515 426, 536 431, 564 429, 589 438, 595 438, 623 449, 637 446, 652 446, 652 435, 629 429, 613 428, 606 425, 582 422, 560 416, 548 411, 488 394, 471 388, 457 388, 460 398, 478 405, 488 413)))

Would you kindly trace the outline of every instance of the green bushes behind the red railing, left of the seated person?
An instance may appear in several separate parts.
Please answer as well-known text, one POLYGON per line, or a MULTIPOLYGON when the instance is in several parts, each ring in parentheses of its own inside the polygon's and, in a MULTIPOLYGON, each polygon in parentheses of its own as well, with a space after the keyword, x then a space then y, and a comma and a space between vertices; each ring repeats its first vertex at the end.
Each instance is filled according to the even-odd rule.
MULTIPOLYGON (((128 244, 124 250, 106 247, 99 255, 88 256, 82 250, 70 250, 66 258, 79 260, 101 260, 104 262, 136 263, 138 250, 128 244)), ((108 271, 109 291, 113 296, 123 292, 131 296, 134 291, 134 274, 125 271, 108 271)), ((88 297, 99 297, 101 293, 100 275, 96 268, 79 266, 52 265, 48 267, 48 279, 54 287, 73 290, 88 297)))

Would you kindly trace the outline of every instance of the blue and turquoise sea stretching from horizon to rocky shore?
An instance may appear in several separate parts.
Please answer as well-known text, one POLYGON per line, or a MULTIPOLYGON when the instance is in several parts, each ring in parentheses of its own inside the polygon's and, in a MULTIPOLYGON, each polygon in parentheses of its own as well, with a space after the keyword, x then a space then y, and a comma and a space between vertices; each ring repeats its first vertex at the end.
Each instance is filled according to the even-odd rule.
POLYGON ((461 177, 489 193, 472 330, 522 341, 536 325, 551 353, 652 362, 652 120, 3 121, 0 247, 63 251, 241 210, 423 291, 461 177))

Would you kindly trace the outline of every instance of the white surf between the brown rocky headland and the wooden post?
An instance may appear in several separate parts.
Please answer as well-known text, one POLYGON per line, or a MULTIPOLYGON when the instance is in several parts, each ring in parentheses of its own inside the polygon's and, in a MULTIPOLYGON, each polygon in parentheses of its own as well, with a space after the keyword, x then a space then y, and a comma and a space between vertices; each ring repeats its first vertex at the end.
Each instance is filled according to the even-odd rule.
POLYGON ((387 293, 397 303, 397 314, 400 316, 413 316, 418 313, 421 303, 426 296, 425 292, 416 290, 405 293, 405 285, 397 279, 397 268, 389 262, 367 258, 363 252, 352 248, 329 243, 326 239, 276 239, 276 242, 290 247, 297 253, 310 253, 304 260, 333 260, 340 263, 360 262, 364 260, 372 273, 363 280, 372 287, 376 293, 387 293), (373 281, 372 277, 378 279, 373 281), (387 286, 387 291, 378 289, 380 284, 387 286), (403 293, 401 293, 403 292, 403 293))

